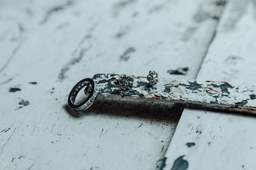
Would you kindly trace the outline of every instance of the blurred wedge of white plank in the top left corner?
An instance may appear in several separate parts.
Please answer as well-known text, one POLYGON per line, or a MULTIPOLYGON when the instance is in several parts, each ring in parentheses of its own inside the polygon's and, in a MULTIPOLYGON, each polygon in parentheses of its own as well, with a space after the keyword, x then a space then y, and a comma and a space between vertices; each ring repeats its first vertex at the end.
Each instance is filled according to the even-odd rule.
POLYGON ((38 27, 38 20, 45 13, 45 8, 61 1, 36 3, 36 5, 34 3, 29 0, 0 2, 0 73, 2 74, 6 74, 4 69, 17 55, 28 35, 38 27))

